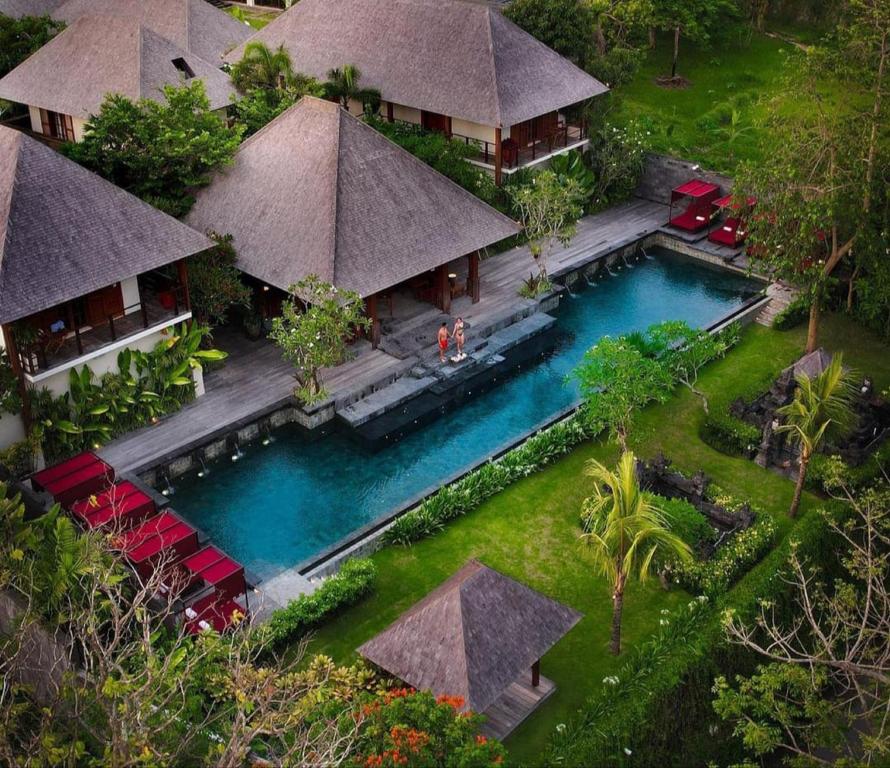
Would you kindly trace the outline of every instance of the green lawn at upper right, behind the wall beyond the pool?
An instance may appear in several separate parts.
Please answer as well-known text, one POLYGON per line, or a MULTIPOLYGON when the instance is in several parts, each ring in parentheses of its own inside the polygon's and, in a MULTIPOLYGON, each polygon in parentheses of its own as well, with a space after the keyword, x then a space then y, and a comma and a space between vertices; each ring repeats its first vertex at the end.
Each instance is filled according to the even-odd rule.
POLYGON ((672 54, 672 39, 659 37, 633 82, 617 91, 616 119, 643 120, 653 150, 713 170, 732 172, 739 161, 758 159, 764 135, 758 124, 781 90, 787 60, 799 55, 795 47, 741 25, 707 48, 681 40, 678 72, 690 81, 682 89, 655 82, 670 74, 672 54))

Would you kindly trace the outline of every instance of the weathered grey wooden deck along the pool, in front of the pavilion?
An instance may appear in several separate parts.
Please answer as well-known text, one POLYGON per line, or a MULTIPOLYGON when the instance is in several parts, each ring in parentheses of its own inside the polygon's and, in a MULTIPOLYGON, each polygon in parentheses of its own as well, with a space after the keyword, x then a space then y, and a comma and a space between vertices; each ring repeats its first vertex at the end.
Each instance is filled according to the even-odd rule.
MULTIPOLYGON (((667 219, 667 206, 632 200, 578 223, 575 238, 566 248, 557 245, 549 258, 554 277, 584 266, 599 256, 656 233, 667 219)), ((362 392, 386 386, 418 363, 436 357, 435 333, 440 323, 462 316, 470 336, 487 335, 537 311, 536 302, 518 295, 522 282, 535 270, 527 246, 491 256, 480 265, 481 300, 456 299, 449 315, 427 307, 410 319, 410 326, 394 327, 392 335, 413 334, 412 345, 388 347, 384 334, 380 349, 367 342, 354 345, 354 357, 323 372, 330 397, 345 405, 362 392), (390 351, 387 351, 387 350, 390 351)), ((397 314, 397 313, 396 313, 397 314)), ((398 324, 397 324, 398 325, 398 324)), ((386 322, 384 318, 384 330, 386 322)), ((100 449, 100 455, 118 472, 144 472, 216 437, 261 418, 293 402, 294 379, 288 363, 267 341, 249 341, 227 329, 216 333, 215 343, 229 358, 205 378, 205 394, 159 423, 131 432, 100 449)))

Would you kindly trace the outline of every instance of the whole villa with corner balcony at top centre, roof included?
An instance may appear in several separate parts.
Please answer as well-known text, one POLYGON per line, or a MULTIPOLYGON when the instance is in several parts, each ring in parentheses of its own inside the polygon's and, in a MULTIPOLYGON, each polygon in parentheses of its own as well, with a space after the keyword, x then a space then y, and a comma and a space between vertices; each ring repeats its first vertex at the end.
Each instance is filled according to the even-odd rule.
POLYGON ((471 144, 498 183, 583 149, 581 108, 607 90, 497 8, 467 0, 300 0, 251 40, 283 45, 296 71, 322 80, 357 66, 360 86, 381 92, 381 116, 471 144))

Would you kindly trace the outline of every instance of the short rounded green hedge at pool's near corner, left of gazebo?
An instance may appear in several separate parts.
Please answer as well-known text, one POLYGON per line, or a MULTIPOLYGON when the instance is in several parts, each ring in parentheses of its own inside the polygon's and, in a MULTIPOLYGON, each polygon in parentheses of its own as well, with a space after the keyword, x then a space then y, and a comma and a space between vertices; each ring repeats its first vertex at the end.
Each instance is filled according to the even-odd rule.
POLYGON ((271 648, 290 644, 303 637, 336 611, 357 603, 374 586, 377 566, 371 560, 347 560, 312 594, 300 595, 279 608, 258 632, 271 648))

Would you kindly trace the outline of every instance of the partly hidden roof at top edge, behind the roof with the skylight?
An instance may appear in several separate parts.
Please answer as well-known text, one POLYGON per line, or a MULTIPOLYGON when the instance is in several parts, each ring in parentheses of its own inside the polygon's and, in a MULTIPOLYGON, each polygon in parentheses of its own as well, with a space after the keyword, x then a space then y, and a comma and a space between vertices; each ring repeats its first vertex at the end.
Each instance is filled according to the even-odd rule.
POLYGON ((67 0, 52 14, 68 24, 81 16, 99 15, 138 21, 211 63, 253 33, 250 26, 206 0, 67 0))

